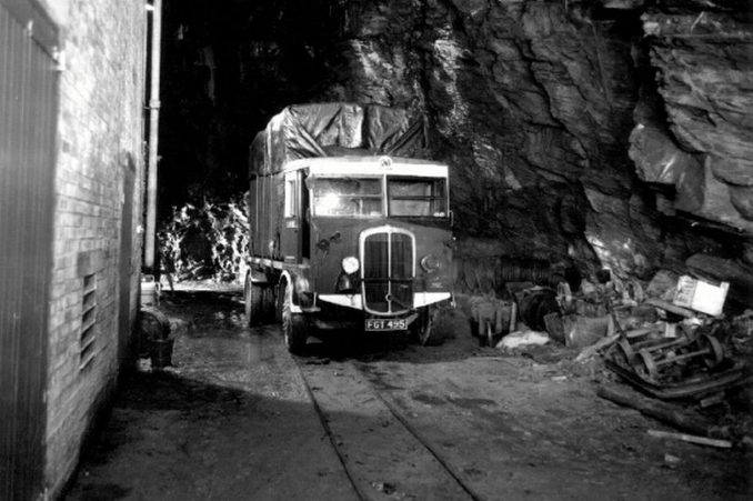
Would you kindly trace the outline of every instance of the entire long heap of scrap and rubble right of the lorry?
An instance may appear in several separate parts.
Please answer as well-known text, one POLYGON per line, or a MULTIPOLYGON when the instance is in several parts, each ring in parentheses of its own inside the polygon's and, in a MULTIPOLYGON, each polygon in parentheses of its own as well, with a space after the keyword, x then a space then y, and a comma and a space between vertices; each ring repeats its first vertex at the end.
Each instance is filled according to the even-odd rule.
POLYGON ((609 270, 574 292, 564 280, 506 282, 501 293, 471 298, 471 329, 482 345, 505 351, 554 341, 578 350, 576 362, 601 354, 609 370, 643 392, 713 402, 747 380, 745 359, 753 355, 753 310, 725 312, 727 290, 726 282, 665 270, 645 288, 609 270))

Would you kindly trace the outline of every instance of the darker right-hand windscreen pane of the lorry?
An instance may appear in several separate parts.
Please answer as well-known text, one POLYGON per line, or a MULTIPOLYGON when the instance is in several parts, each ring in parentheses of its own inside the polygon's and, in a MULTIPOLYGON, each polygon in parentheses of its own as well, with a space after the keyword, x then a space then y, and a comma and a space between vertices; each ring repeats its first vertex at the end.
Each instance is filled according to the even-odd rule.
POLYGON ((448 199, 444 179, 388 178, 390 216, 446 218, 448 199))

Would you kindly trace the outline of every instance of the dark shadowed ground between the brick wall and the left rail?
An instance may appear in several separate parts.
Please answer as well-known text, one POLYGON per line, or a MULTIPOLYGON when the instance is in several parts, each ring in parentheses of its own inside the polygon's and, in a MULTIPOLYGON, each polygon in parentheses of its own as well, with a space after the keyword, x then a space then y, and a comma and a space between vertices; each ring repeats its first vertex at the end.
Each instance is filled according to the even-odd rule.
POLYGON ((352 499, 323 434, 308 402, 138 372, 64 500, 352 499))

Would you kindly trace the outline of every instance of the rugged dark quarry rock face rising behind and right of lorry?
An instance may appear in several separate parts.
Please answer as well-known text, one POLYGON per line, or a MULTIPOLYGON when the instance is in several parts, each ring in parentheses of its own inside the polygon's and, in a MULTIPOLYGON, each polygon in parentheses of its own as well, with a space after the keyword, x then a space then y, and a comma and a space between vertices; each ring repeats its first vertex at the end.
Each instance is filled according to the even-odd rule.
MULTIPOLYGON (((284 23, 295 2, 273 3, 284 23)), ((238 64, 273 67, 245 81, 284 82, 272 102, 426 113, 434 156, 451 166, 463 251, 646 280, 696 254, 753 257, 747 2, 318 3, 317 34, 299 33, 305 86, 283 64, 290 47, 271 57, 269 40, 261 50, 241 30, 261 59, 247 51, 238 64)))

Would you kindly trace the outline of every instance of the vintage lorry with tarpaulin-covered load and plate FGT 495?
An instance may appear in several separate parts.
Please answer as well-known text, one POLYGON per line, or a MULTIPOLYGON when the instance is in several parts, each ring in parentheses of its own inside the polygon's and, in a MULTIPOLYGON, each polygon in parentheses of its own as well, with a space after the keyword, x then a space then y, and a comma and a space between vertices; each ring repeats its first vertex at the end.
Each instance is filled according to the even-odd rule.
POLYGON ((245 314, 278 321, 288 349, 310 330, 405 331, 428 343, 452 305, 444 163, 425 160, 405 110, 298 104, 250 148, 245 314))

